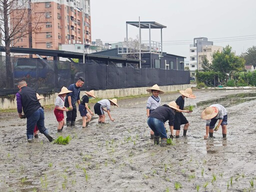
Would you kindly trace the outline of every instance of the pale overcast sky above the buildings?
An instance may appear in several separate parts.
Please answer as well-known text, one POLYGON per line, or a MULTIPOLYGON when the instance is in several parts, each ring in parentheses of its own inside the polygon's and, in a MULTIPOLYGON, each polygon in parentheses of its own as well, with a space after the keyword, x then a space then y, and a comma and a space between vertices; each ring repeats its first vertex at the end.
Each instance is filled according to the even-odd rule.
MULTIPOLYGON (((155 21, 162 29, 163 51, 187 57, 194 37, 207 37, 213 45, 229 44, 236 54, 256 45, 256 0, 90 0, 92 40, 123 41, 126 21, 155 21)), ((138 28, 128 25, 128 37, 138 28)), ((148 29, 141 29, 148 40, 148 29)), ((151 29, 160 41, 160 29, 151 29)))

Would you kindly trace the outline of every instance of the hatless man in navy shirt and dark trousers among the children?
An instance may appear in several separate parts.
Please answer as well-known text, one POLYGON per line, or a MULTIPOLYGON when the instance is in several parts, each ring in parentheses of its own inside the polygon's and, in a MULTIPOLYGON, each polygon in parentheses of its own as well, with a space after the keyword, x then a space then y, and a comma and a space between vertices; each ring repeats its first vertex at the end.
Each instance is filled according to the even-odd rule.
POLYGON ((68 86, 68 90, 71 90, 72 92, 69 92, 66 94, 65 97, 65 107, 69 107, 69 110, 66 111, 66 126, 74 126, 75 125, 75 119, 76 119, 76 105, 80 104, 80 87, 84 84, 84 78, 79 77, 76 81, 76 83, 70 84, 68 86))

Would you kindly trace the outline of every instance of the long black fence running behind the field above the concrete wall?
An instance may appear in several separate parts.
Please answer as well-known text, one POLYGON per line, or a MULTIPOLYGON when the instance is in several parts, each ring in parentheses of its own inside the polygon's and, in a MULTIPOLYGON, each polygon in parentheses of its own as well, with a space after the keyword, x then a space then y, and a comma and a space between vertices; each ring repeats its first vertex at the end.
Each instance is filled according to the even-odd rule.
POLYGON ((188 84, 189 71, 123 67, 120 63, 105 64, 86 60, 85 64, 70 61, 11 57, 13 86, 6 87, 5 56, 0 56, 0 95, 17 92, 17 82, 26 80, 38 93, 58 92, 62 86, 84 77, 82 90, 105 90, 129 87, 188 84), (121 67, 118 67, 121 66, 121 67))

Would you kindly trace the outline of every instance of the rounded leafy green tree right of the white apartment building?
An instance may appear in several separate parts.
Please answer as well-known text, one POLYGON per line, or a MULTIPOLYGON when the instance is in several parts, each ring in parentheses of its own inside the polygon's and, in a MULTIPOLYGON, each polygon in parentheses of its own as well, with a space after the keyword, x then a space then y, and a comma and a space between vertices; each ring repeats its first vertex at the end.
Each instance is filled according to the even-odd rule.
POLYGON ((244 69, 244 63, 244 59, 236 56, 229 45, 223 47, 222 52, 212 54, 212 69, 226 74, 226 82, 228 76, 232 79, 235 71, 244 69))

